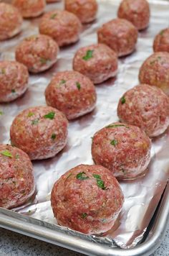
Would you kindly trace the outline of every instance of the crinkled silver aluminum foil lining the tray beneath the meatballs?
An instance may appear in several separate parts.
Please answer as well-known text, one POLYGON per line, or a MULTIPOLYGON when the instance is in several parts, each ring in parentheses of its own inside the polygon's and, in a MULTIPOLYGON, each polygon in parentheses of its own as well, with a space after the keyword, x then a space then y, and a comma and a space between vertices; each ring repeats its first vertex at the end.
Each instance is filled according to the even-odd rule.
MULTIPOLYGON (((44 73, 31 75, 29 90, 24 96, 10 104, 0 105, 0 142, 9 143, 9 129, 14 116, 29 106, 45 105, 44 90, 54 73, 61 70, 72 70, 72 58, 79 47, 97 42, 97 29, 104 23, 117 17, 120 1, 98 1, 100 4, 97 20, 85 25, 79 42, 64 47, 59 52, 57 64, 44 73), (3 114, 1 113, 3 112, 3 114)), ((135 247, 143 238, 150 219, 158 206, 169 178, 169 129, 165 134, 153 139, 151 161, 148 172, 137 180, 120 182, 125 195, 125 204, 115 226, 102 237, 87 236, 79 232, 56 226, 50 193, 54 182, 67 170, 81 163, 93 164, 91 155, 91 137, 102 127, 117 122, 117 102, 120 96, 138 84, 137 76, 140 65, 153 52, 153 38, 160 29, 169 27, 169 1, 149 1, 151 10, 150 26, 139 33, 137 47, 132 55, 119 59, 119 70, 116 78, 96 86, 97 107, 76 121, 69 122, 69 139, 67 146, 56 157, 49 160, 34 161, 34 175, 37 191, 34 198, 14 211, 24 214, 28 221, 37 219, 42 226, 54 227, 61 232, 70 232, 94 242, 117 244, 122 248, 135 247), (31 217, 31 218, 30 218, 31 217), (115 242, 115 243, 114 243, 115 242)), ((46 11, 54 8, 63 9, 63 3, 49 4, 46 11)), ((26 36, 38 33, 37 19, 24 20, 20 35, 0 43, 1 60, 14 60, 16 45, 26 36)), ((25 218, 24 217, 24 218, 25 218)))

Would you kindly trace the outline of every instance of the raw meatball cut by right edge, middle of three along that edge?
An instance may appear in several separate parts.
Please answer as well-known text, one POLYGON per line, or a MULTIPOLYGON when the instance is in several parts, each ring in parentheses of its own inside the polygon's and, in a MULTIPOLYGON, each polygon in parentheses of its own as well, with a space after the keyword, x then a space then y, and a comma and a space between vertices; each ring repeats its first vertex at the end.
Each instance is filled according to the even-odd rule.
POLYGON ((158 86, 169 96, 169 52, 155 52, 140 68, 140 83, 158 86))

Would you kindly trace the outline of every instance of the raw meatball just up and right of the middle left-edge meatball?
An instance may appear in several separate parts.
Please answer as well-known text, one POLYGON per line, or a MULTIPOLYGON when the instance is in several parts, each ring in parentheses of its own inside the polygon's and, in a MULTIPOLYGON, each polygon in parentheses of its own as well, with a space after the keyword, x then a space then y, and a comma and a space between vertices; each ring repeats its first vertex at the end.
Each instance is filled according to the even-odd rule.
POLYGON ((57 43, 47 35, 26 37, 16 47, 16 60, 26 65, 32 73, 49 69, 57 62, 57 43))

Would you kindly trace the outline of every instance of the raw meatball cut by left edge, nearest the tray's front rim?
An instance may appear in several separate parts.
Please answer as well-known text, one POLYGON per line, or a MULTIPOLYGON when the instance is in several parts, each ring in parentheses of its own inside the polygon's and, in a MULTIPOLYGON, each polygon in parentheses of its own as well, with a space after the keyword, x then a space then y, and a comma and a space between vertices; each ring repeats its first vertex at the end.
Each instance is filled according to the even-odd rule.
POLYGON ((24 204, 34 193, 33 166, 28 155, 11 145, 0 145, 0 207, 24 204))

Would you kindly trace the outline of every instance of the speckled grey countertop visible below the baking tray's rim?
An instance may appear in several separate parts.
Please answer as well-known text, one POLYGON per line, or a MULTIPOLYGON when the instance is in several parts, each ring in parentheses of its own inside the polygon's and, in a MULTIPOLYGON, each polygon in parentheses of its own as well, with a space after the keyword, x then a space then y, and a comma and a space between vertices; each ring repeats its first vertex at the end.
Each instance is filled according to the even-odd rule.
MULTIPOLYGON (((0 256, 81 256, 82 254, 0 228, 0 256)), ((151 256, 169 255, 169 228, 151 256)))

